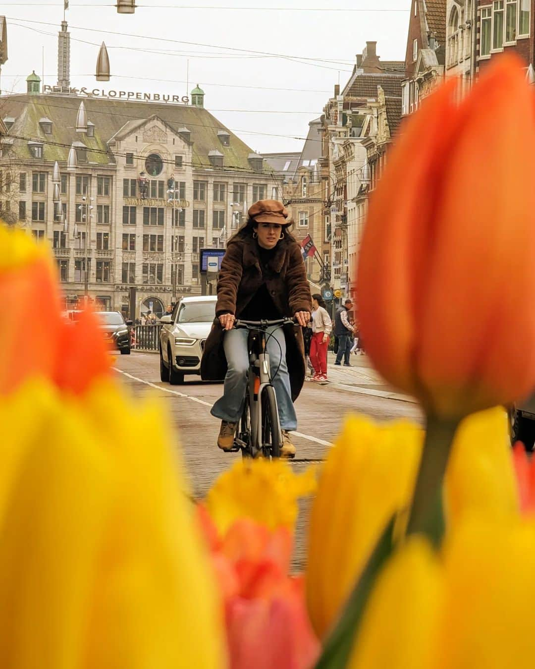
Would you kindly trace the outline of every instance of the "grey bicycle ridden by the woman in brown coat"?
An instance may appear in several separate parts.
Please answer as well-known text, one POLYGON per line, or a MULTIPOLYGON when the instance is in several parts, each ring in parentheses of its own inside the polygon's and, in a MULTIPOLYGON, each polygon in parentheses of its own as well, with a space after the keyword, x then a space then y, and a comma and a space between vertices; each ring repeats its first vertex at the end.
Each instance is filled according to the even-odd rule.
MULTIPOLYGON (((249 376, 245 404, 237 425, 231 452, 243 458, 279 458, 282 447, 277 397, 272 384, 270 355, 266 351, 266 330, 272 326, 295 325, 295 318, 278 320, 236 320, 234 327, 249 330, 249 376)), ((277 374, 276 370, 274 376, 277 374)))

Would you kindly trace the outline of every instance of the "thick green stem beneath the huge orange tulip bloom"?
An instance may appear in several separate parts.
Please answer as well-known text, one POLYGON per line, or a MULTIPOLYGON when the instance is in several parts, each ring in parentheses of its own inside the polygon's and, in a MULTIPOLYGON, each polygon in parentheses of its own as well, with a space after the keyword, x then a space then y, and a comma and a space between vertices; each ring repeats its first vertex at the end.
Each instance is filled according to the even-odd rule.
POLYGON ((458 426, 458 420, 447 421, 433 415, 427 416, 425 442, 407 535, 423 533, 435 546, 440 544, 445 530, 442 484, 458 426))

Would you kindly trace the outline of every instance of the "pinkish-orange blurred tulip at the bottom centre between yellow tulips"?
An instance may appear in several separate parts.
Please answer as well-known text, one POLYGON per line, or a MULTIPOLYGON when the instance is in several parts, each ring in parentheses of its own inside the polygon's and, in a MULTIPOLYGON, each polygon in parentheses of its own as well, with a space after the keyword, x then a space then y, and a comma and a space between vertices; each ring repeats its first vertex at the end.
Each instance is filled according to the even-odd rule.
POLYGON ((235 520, 220 537, 203 507, 198 518, 225 606, 231 669, 310 669, 319 642, 306 613, 301 578, 288 576, 292 533, 235 520))

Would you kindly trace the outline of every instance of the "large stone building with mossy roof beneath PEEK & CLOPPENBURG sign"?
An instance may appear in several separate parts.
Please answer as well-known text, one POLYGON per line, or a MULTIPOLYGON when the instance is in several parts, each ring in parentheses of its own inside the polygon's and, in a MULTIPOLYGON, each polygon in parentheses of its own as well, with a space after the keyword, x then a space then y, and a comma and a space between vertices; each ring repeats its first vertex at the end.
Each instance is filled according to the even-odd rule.
POLYGON ((80 102, 3 98, 8 133, 17 137, 3 142, 0 170, 11 175, 0 193, 3 213, 15 210, 17 225, 53 247, 66 308, 84 295, 84 258, 88 296, 101 308, 128 313, 135 288, 132 318, 200 294, 199 250, 223 248, 247 206, 271 197, 272 171, 202 107, 84 98, 88 128, 76 134, 80 102))

